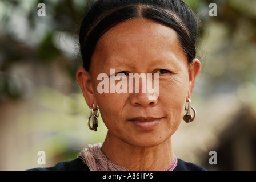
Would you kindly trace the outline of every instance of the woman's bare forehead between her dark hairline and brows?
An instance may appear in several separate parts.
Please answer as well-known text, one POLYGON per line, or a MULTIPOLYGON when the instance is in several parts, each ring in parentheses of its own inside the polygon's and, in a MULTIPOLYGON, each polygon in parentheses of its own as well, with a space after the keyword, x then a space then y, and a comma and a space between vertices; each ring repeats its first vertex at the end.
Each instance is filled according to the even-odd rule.
POLYGON ((95 54, 104 59, 103 64, 134 58, 161 60, 163 57, 186 57, 173 29, 139 18, 119 23, 107 31, 99 39, 93 58, 95 54))

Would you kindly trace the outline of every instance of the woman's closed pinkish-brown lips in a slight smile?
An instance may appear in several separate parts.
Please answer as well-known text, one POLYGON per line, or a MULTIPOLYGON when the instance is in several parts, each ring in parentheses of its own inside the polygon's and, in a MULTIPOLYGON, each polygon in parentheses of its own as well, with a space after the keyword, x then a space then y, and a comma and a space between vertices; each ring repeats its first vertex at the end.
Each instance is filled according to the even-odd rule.
POLYGON ((135 117, 128 119, 135 127, 142 130, 150 130, 159 124, 162 118, 154 117, 135 117))

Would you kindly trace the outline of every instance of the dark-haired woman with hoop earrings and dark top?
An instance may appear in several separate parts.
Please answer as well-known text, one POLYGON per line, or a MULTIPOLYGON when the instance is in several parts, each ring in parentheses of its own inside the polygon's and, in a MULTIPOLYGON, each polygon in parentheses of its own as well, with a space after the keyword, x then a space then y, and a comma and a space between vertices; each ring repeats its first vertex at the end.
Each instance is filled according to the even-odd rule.
POLYGON ((41 169, 204 170, 177 159, 171 146, 182 118, 195 117, 197 31, 179 0, 96 1, 81 24, 77 81, 91 109, 89 128, 97 131, 99 109, 106 139, 71 162, 41 169), (143 81, 132 82, 136 76, 143 81))

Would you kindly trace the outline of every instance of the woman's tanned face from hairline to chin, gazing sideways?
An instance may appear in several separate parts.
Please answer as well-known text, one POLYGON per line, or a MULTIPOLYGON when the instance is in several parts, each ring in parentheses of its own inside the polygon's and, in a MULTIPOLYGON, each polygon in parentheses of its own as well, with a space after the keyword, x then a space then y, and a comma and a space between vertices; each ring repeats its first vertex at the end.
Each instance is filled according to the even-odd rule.
POLYGON ((98 104, 111 138, 137 147, 157 146, 170 138, 182 120, 196 77, 192 72, 173 29, 146 19, 127 20, 99 39, 90 65, 90 100, 98 104), (110 69, 127 77, 127 93, 110 93, 110 69), (98 92, 103 81, 97 80, 100 73, 109 78, 109 93, 98 92), (142 81, 139 93, 130 93, 129 73, 158 73, 159 91, 153 93, 157 98, 151 99, 147 89, 142 93, 146 88, 142 81))

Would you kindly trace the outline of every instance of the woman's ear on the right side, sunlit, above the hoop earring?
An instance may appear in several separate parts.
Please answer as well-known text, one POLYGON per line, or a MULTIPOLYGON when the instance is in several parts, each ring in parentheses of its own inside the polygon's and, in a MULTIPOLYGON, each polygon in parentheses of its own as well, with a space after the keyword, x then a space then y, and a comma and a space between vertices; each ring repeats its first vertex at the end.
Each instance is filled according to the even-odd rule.
POLYGON ((192 63, 189 64, 189 91, 187 93, 186 101, 192 97, 193 90, 195 87, 195 80, 201 70, 201 63, 198 59, 193 59, 192 63))

